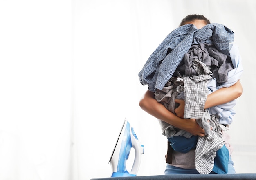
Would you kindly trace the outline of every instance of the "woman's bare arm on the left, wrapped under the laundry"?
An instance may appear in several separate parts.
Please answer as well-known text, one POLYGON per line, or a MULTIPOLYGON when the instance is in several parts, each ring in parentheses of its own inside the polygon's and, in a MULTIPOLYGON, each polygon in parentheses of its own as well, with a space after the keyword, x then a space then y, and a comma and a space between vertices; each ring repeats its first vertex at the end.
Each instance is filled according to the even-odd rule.
POLYGON ((204 136, 204 130, 196 123, 195 119, 182 119, 168 109, 161 103, 158 103, 155 99, 154 92, 147 91, 144 97, 139 101, 139 106, 148 114, 161 119, 166 123, 169 123, 177 128, 186 130, 193 135, 204 136))

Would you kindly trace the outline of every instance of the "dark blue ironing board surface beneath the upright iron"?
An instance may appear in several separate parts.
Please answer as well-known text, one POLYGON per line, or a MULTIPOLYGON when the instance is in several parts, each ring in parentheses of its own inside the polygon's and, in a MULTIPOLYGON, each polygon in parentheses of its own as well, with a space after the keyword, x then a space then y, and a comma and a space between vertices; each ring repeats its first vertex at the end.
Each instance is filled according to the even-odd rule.
POLYGON ((256 174, 177 174, 157 176, 135 176, 93 178, 91 180, 256 180, 256 174))

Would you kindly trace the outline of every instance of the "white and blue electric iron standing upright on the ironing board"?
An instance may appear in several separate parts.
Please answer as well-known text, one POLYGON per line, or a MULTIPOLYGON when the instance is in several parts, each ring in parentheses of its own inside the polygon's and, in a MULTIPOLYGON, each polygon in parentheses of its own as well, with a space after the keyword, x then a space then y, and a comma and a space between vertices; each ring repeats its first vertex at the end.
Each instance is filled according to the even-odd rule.
POLYGON ((142 154, 144 154, 144 145, 141 145, 133 127, 130 127, 130 123, 125 119, 117 143, 108 162, 113 171, 111 177, 136 176, 142 154), (135 149, 135 158, 129 173, 126 169, 126 160, 129 157, 131 148, 135 149))

